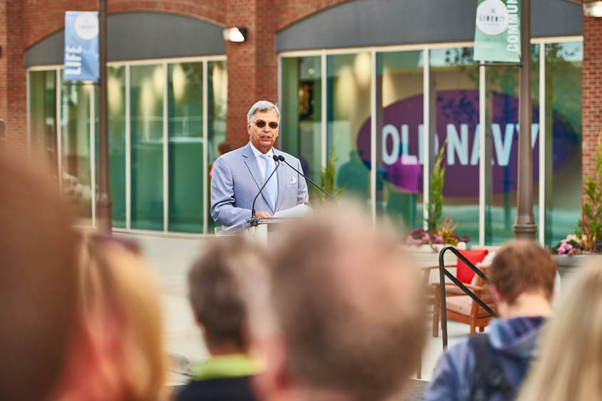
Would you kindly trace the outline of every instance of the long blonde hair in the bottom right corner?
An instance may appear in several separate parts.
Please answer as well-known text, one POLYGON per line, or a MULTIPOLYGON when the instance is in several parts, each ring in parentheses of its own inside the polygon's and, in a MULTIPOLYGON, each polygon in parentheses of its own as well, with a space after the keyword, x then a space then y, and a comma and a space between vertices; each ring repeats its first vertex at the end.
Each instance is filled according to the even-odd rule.
POLYGON ((602 261, 576 273, 545 329, 519 401, 602 400, 602 261))

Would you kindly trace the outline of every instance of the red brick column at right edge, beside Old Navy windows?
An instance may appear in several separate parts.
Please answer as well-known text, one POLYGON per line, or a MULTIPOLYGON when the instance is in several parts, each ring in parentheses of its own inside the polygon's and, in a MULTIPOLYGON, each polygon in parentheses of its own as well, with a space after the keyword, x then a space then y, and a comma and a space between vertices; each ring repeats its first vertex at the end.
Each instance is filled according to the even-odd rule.
POLYGON ((583 177, 596 168, 602 130, 602 19, 583 17, 583 177))

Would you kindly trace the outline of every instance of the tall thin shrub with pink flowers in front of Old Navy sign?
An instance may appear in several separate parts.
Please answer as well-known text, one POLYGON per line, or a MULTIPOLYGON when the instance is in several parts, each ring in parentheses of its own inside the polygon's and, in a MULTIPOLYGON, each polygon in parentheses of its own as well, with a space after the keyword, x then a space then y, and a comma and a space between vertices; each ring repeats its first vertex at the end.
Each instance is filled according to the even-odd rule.
MULTIPOLYGON (((433 260, 437 259, 436 264, 439 263, 439 250, 444 246, 451 245, 458 249, 466 249, 466 243, 470 241, 469 236, 459 236, 454 233, 459 223, 451 219, 449 214, 443 218, 443 184, 446 170, 443 155, 446 142, 447 140, 443 142, 439 150, 437 159, 434 162, 433 172, 431 173, 429 186, 430 198, 429 202, 427 202, 429 217, 425 219, 427 229, 414 230, 406 237, 406 245, 411 246, 414 251, 434 254, 435 258, 433 260)), ((448 257, 451 259, 455 258, 451 253, 448 257)))

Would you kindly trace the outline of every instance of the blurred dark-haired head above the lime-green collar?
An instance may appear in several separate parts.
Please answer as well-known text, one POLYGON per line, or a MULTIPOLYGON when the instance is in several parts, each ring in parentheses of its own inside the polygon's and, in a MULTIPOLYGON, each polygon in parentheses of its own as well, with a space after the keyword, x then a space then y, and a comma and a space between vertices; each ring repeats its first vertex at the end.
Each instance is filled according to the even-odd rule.
POLYGON ((246 353, 247 302, 259 244, 243 236, 213 240, 188 272, 188 296, 212 355, 246 353))

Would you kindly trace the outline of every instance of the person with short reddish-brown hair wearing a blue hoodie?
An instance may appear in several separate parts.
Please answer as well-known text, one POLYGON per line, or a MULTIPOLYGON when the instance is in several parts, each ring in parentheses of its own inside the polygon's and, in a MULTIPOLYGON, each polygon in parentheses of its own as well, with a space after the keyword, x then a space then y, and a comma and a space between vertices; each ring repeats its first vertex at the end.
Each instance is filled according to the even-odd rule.
POLYGON ((552 315, 556 261, 534 241, 509 241, 489 267, 499 318, 489 333, 444 351, 427 400, 514 400, 546 318, 552 315))

